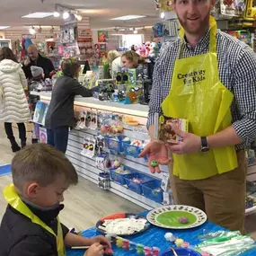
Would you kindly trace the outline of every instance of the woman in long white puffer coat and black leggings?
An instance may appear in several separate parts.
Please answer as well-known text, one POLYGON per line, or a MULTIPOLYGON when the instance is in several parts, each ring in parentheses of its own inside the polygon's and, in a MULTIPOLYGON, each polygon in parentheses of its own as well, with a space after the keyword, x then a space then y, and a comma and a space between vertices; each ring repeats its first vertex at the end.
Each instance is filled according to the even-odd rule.
POLYGON ((25 87, 27 80, 13 51, 5 47, 0 49, 0 121, 4 122, 13 152, 19 151, 21 147, 13 136, 12 123, 17 123, 21 145, 24 147, 27 139, 24 122, 31 120, 25 87))

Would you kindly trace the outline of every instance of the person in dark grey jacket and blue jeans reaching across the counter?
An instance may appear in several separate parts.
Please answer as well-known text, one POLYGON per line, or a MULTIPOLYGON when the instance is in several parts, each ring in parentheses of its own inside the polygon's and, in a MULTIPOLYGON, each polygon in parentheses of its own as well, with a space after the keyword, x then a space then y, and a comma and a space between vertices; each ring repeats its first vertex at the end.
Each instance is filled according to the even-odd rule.
POLYGON ((69 128, 75 127, 75 95, 92 97, 97 87, 89 90, 78 83, 80 64, 77 59, 65 59, 61 68, 63 76, 57 78, 53 87, 45 126, 48 144, 66 153, 69 128))

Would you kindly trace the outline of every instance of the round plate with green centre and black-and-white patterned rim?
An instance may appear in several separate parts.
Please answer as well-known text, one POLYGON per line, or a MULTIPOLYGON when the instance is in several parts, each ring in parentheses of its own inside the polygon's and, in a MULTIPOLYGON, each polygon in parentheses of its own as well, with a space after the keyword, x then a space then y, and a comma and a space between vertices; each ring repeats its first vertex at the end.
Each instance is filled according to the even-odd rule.
POLYGON ((207 221, 207 215, 199 208, 181 205, 155 208, 146 218, 153 225, 172 229, 189 229, 203 225, 207 221), (187 217, 189 223, 181 224, 180 217, 187 217))

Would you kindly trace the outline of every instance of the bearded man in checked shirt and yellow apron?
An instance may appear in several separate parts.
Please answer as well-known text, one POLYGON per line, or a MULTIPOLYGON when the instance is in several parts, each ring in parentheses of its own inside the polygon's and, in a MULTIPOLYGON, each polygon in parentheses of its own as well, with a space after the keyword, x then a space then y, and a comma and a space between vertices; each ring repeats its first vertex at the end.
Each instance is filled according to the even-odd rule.
MULTIPOLYGON (((222 31, 210 16, 215 0, 174 0, 181 38, 154 67, 148 129, 140 155, 148 163, 172 161, 176 202, 199 207, 217 225, 244 233, 247 163, 244 148, 256 137, 256 56, 222 31), (189 132, 173 126, 179 145, 154 139, 154 113, 188 119, 189 132)), ((159 166, 149 166, 160 172, 159 166)))

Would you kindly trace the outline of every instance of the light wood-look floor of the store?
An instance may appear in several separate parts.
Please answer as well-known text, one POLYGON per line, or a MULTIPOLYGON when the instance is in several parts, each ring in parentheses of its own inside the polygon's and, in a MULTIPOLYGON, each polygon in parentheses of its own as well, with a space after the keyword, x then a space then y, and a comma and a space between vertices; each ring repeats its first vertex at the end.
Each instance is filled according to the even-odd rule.
MULTIPOLYGON (((16 130, 15 134, 17 134, 16 130)), ((28 143, 30 140, 30 134, 28 134, 28 143)), ((0 164, 11 163, 12 158, 13 153, 5 136, 3 125, 0 124, 0 164)), ((0 177, 0 190, 2 191, 4 186, 11 181, 10 175, 0 177)), ((0 193, 0 220, 4 214, 5 206, 4 197, 0 193)), ((111 192, 100 190, 95 184, 82 178, 75 187, 66 191, 65 206, 60 214, 62 222, 69 227, 75 227, 77 230, 92 227, 102 216, 111 213, 144 210, 111 192)), ((256 215, 247 216, 245 226, 248 234, 251 234, 256 240, 256 215)))

